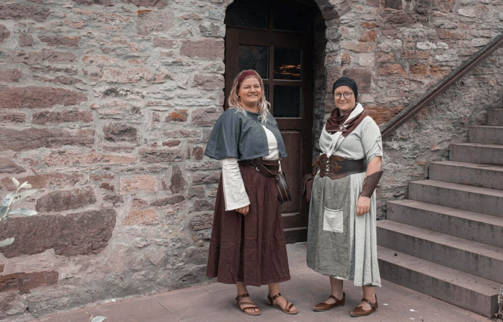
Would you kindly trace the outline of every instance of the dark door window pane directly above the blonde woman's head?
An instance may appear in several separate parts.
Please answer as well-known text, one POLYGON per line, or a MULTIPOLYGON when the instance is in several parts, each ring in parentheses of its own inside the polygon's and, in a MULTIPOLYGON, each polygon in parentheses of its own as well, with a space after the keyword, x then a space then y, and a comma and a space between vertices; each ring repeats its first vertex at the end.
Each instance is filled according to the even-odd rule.
POLYGON ((239 45, 238 55, 239 71, 255 69, 262 78, 268 78, 269 47, 239 45))

